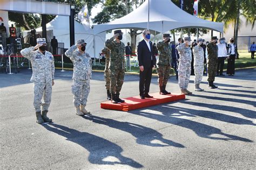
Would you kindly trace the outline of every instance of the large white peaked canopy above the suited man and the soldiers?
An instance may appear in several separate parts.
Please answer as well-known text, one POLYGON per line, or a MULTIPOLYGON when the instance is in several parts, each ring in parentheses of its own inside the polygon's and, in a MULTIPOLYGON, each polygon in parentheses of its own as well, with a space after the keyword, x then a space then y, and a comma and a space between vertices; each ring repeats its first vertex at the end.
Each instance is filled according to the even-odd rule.
POLYGON ((181 10, 170 0, 147 0, 128 15, 106 24, 93 25, 95 34, 114 29, 147 29, 150 11, 150 30, 164 33, 178 28, 202 28, 223 32, 223 23, 200 19, 181 10), (149 4, 150 3, 150 4, 149 4))

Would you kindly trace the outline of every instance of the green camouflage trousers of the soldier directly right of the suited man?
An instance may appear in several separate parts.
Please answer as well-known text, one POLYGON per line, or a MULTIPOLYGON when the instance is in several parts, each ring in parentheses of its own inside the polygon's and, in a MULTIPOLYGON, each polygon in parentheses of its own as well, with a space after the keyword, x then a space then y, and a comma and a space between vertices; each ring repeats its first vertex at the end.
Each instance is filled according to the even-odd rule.
POLYGON ((170 77, 170 69, 171 66, 169 65, 158 65, 157 73, 159 86, 166 86, 170 77))

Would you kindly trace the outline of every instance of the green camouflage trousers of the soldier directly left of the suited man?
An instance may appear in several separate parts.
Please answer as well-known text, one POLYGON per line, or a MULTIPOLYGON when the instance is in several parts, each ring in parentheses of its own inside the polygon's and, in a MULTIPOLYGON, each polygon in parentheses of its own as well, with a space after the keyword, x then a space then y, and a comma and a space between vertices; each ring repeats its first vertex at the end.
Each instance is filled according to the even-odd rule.
POLYGON ((109 69, 110 93, 119 94, 124 83, 124 69, 109 69))

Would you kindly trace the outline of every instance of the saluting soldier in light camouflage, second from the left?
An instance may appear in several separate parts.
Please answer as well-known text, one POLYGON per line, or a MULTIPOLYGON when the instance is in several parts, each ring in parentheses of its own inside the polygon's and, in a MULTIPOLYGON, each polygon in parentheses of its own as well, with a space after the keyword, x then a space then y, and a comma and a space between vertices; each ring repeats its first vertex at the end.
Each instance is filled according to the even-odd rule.
POLYGON ((78 116, 89 115, 85 109, 87 97, 90 93, 90 79, 92 76, 92 59, 85 52, 86 43, 83 39, 77 40, 77 44, 71 46, 65 55, 70 58, 74 65, 72 94, 78 116))

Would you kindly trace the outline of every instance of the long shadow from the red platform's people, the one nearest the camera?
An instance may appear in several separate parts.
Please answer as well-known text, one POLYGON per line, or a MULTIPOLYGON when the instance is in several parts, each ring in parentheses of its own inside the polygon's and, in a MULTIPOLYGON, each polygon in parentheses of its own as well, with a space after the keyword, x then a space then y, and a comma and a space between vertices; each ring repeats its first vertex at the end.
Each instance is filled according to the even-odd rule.
MULTIPOLYGON (((159 108, 159 106, 158 106, 159 108)), ((190 129, 194 131, 199 137, 201 138, 208 138, 208 139, 216 139, 216 140, 240 140, 240 141, 246 141, 246 142, 252 142, 250 139, 241 138, 238 136, 234 136, 232 134, 227 134, 224 132, 221 132, 220 129, 215 128, 210 125, 206 125, 199 122, 194 122, 189 119, 185 118, 177 118, 176 116, 173 116, 172 113, 179 112, 179 109, 170 109, 165 108, 163 105, 161 106, 161 115, 159 114, 152 114, 153 110, 151 112, 145 112, 143 110, 133 110, 129 111, 129 113, 139 116, 144 116, 147 118, 155 119, 160 122, 165 122, 177 126, 181 126, 186 129, 190 129)), ((159 110, 158 110, 159 112, 159 110)), ((187 109, 187 112, 191 112, 190 109, 187 109)), ((192 114, 193 115, 193 114, 192 114)))

